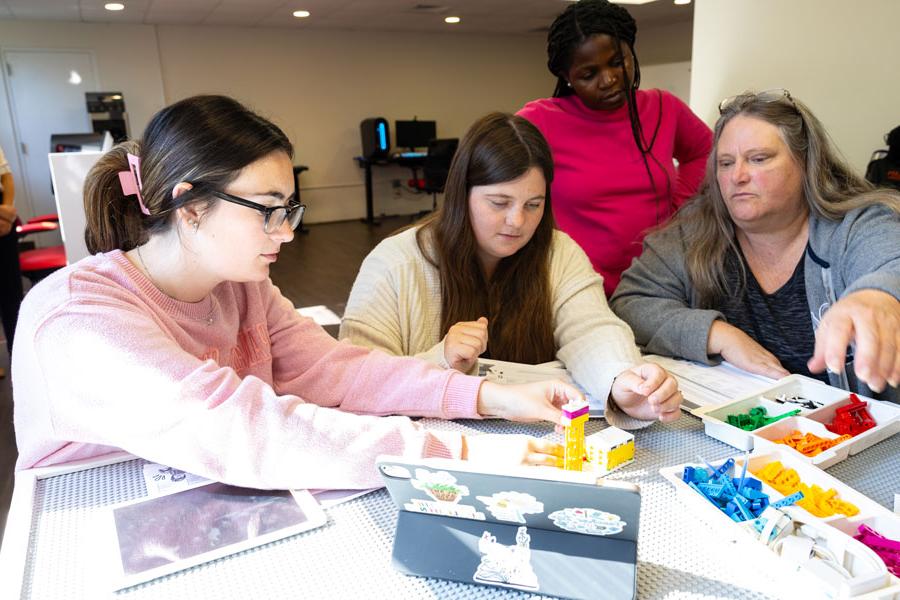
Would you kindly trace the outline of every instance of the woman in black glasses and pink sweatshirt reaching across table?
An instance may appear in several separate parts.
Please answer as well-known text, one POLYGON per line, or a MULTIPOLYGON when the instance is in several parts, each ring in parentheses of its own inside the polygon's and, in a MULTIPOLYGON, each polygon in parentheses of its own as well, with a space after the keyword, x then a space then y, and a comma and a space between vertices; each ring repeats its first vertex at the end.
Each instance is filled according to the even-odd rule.
POLYGON ((555 464, 526 436, 429 431, 405 417, 558 422, 558 382, 500 386, 338 343, 269 266, 293 237, 292 147, 222 96, 159 112, 85 184, 94 253, 37 285, 13 352, 18 467, 124 449, 261 488, 378 485, 378 454, 555 464))

